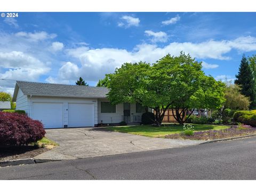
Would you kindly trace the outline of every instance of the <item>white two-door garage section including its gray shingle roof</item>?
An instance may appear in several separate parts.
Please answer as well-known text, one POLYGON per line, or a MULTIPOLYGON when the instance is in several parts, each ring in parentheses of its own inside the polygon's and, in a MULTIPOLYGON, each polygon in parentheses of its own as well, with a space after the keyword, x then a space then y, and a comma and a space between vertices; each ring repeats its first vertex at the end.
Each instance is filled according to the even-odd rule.
POLYGON ((46 129, 91 127, 98 124, 98 99, 108 92, 106 87, 17 81, 13 101, 46 129))

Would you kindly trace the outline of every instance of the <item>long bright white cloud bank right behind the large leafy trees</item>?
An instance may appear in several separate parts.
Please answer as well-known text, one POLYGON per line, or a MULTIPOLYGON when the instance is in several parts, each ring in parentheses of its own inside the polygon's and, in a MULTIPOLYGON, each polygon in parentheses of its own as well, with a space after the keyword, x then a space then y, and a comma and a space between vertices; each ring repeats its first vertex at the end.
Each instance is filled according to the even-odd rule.
MULTIPOLYGON (((225 54, 231 50, 239 51, 248 47, 250 50, 256 51, 256 43, 251 42, 254 42, 254 37, 249 36, 231 41, 210 40, 201 43, 173 42, 164 47, 158 47, 155 44, 140 44, 135 46, 132 51, 110 48, 90 49, 85 46, 77 47, 76 49, 68 49, 66 52, 67 55, 77 59, 77 62, 81 66, 64 65, 65 67, 62 67, 59 71, 59 81, 68 80, 66 78, 68 73, 73 74, 73 78, 75 79, 83 76, 86 81, 98 81, 106 73, 113 73, 115 68, 120 67, 124 62, 146 61, 154 63, 168 53, 179 55, 180 51, 185 51, 186 54, 189 53, 191 57, 195 57, 196 59, 230 59, 225 54)), ((203 67, 213 69, 218 67, 218 65, 203 62, 203 67)), ((69 76, 69 78, 71 77, 69 76)))

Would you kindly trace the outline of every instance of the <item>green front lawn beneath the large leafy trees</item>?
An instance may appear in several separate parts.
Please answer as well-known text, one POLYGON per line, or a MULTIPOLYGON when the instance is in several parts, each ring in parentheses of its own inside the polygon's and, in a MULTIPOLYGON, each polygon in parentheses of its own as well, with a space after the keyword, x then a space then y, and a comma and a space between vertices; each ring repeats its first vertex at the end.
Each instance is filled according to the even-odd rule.
MULTIPOLYGON (((206 130, 221 130, 227 129, 229 126, 226 125, 198 125, 191 124, 194 126, 195 131, 206 131, 206 130)), ((167 134, 180 133, 183 131, 183 126, 166 124, 166 126, 156 127, 150 125, 131 125, 131 126, 116 126, 108 127, 111 131, 121 133, 131 133, 147 137, 164 137, 167 134)))

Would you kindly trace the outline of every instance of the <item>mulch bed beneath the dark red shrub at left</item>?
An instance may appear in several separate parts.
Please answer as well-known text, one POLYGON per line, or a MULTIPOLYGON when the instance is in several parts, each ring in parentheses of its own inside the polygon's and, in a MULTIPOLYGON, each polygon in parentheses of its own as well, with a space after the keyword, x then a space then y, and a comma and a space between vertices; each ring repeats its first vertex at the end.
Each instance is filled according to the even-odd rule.
POLYGON ((38 148, 33 145, 28 146, 0 146, 0 162, 12 161, 23 158, 33 158, 45 151, 47 148, 38 148))

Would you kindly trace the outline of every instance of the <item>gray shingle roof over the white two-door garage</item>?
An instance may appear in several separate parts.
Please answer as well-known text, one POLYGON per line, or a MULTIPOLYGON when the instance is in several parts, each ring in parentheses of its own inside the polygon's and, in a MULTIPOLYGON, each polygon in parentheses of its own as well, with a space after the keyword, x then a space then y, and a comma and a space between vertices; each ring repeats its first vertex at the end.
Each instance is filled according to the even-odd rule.
POLYGON ((106 94, 108 93, 108 89, 105 87, 34 83, 22 81, 17 81, 17 85, 19 86, 23 94, 26 95, 77 98, 106 98, 106 94))

